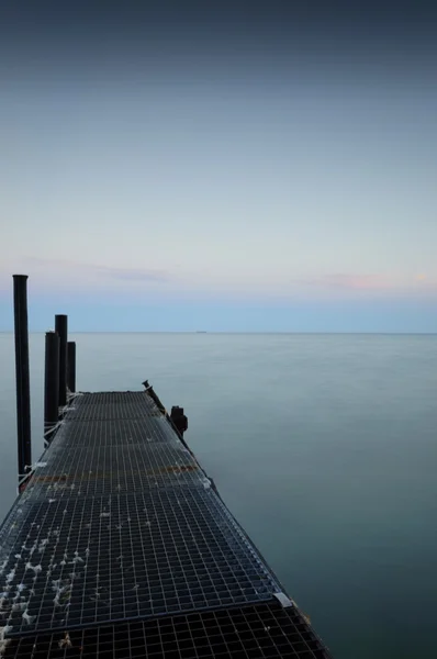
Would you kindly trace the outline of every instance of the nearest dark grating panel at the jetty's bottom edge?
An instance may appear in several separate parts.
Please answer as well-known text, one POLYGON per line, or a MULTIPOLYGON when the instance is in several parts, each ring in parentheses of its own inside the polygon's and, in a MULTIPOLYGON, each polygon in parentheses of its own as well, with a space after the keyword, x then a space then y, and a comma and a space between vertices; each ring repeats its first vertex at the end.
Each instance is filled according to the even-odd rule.
POLYGON ((279 603, 11 640, 7 659, 328 659, 295 608, 279 603))

